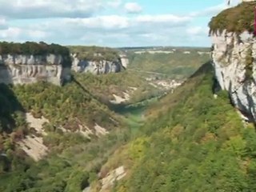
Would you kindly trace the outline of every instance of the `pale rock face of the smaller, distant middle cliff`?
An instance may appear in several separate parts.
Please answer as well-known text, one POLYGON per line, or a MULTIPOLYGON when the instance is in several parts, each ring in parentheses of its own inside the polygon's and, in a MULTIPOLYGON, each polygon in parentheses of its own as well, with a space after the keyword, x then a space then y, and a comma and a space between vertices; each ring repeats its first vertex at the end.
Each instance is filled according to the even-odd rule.
POLYGON ((71 54, 72 57, 72 69, 76 72, 90 72, 92 74, 109 74, 118 73, 123 68, 126 69, 129 61, 122 55, 120 58, 113 61, 107 61, 105 59, 99 61, 89 61, 85 59, 79 59, 77 54, 71 54))

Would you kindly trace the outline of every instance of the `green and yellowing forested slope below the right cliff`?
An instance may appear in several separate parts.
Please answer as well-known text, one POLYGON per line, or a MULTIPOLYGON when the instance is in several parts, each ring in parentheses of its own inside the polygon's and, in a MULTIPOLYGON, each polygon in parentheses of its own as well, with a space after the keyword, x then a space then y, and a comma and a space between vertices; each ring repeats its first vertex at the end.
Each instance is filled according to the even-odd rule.
POLYGON ((126 167, 113 191, 256 190, 254 126, 242 123, 225 91, 214 98, 213 76, 206 64, 152 106, 140 136, 102 167, 103 176, 126 167))

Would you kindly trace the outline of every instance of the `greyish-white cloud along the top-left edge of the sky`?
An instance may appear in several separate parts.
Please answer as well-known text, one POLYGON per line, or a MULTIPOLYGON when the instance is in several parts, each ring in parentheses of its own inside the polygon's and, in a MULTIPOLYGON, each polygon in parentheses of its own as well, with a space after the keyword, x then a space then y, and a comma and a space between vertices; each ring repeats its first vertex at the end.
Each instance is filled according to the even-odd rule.
POLYGON ((0 0, 6 18, 89 17, 103 8, 102 0, 0 0))

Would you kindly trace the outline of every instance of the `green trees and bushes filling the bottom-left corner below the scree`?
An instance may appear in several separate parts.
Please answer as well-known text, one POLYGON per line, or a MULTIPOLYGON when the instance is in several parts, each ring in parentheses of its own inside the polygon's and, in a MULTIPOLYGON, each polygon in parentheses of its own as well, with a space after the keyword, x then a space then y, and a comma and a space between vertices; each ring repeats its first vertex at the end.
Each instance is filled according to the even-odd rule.
POLYGON ((82 191, 89 182, 97 178, 100 167, 113 150, 126 141, 125 134, 121 131, 91 142, 86 142, 78 134, 52 132, 51 135, 55 135, 55 142, 59 143, 58 149, 52 150, 47 158, 39 162, 32 162, 24 154, 18 157, 21 156, 18 153, 22 151, 0 157, 1 168, 2 165, 5 166, 4 163, 8 164, 12 160, 11 172, 4 170, 0 174, 1 191, 82 191))

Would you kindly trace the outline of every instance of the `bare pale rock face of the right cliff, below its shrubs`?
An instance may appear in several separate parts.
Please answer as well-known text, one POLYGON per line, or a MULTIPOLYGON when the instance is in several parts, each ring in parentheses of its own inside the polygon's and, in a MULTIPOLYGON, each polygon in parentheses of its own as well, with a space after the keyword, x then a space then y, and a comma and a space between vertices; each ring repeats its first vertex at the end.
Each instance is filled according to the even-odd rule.
POLYGON ((256 38, 226 30, 211 34, 215 76, 239 110, 256 121, 256 38))

